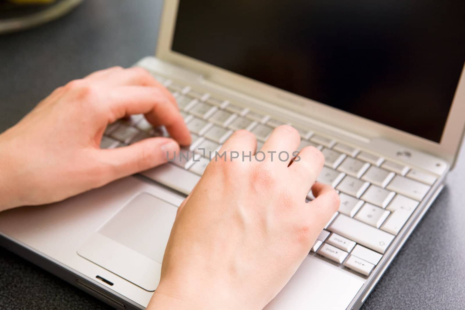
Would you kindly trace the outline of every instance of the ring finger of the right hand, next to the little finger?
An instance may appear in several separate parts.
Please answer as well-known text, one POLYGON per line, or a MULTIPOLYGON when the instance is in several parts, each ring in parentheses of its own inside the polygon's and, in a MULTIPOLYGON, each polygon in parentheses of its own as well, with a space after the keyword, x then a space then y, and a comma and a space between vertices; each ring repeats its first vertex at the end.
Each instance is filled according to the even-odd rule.
POLYGON ((323 153, 316 147, 309 145, 300 150, 288 169, 292 179, 299 180, 297 185, 308 193, 318 178, 324 163, 323 153))

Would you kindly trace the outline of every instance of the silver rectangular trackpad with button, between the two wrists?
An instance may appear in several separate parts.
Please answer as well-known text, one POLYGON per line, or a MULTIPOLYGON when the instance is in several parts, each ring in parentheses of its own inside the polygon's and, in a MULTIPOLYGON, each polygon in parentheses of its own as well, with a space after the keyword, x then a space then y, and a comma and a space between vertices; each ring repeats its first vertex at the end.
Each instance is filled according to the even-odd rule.
POLYGON ((140 286, 154 291, 177 207, 140 193, 83 244, 78 254, 140 286))

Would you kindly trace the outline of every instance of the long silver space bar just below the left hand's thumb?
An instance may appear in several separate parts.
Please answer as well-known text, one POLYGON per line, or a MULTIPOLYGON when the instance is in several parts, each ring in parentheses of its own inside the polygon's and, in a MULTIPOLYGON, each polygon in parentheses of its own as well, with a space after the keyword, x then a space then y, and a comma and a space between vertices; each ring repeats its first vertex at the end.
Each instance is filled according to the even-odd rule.
POLYGON ((188 195, 199 182, 200 177, 171 163, 141 172, 146 178, 188 195))

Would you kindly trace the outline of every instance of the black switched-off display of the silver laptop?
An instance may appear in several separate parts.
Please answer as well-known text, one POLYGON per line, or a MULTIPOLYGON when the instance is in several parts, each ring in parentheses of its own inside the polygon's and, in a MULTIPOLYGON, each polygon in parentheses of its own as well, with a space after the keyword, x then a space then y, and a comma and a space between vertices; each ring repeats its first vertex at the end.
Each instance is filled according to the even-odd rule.
POLYGON ((465 1, 180 0, 172 49, 439 142, 465 1))

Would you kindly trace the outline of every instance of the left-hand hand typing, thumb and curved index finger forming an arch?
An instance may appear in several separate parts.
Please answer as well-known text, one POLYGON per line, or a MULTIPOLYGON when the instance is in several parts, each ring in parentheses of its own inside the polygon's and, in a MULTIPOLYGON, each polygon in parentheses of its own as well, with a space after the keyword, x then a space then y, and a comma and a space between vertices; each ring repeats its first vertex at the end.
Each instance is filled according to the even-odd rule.
POLYGON ((167 161, 189 145, 173 96, 142 68, 113 67, 57 88, 0 135, 0 211, 62 200, 167 161), (173 139, 101 150, 106 125, 143 113, 173 139))

